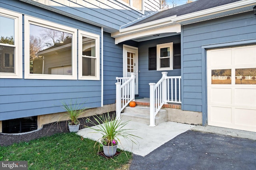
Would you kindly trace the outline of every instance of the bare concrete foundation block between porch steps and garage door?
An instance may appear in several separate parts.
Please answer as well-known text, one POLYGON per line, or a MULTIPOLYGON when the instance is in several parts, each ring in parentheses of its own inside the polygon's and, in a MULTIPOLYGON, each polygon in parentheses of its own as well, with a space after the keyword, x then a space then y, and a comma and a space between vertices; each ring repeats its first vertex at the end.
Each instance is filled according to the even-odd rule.
POLYGON ((167 120, 178 123, 202 125, 202 112, 184 111, 181 109, 164 108, 168 111, 167 120))

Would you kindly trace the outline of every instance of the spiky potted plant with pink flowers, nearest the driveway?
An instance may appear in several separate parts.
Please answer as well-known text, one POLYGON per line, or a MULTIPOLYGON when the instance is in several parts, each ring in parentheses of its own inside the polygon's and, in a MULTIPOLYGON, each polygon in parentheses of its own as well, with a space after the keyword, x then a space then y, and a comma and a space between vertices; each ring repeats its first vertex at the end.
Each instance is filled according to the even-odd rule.
MULTIPOLYGON (((89 122, 97 127, 84 126, 93 129, 95 132, 92 133, 100 133, 102 135, 102 138, 98 139, 96 143, 99 142, 99 149, 100 147, 103 147, 105 156, 112 157, 116 154, 117 146, 118 144, 121 144, 120 137, 136 144, 135 141, 137 140, 135 138, 138 136, 131 134, 133 129, 124 129, 129 121, 117 120, 114 118, 114 114, 110 117, 109 113, 100 117, 96 116, 94 117, 94 120, 96 123, 92 120, 89 120, 89 122)), ((94 147, 96 146, 96 143, 94 147)))

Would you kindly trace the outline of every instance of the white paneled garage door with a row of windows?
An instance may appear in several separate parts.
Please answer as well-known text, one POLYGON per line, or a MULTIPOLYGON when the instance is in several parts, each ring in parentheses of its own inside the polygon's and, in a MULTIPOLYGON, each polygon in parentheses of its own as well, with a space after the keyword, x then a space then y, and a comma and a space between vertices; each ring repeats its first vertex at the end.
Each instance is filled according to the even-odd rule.
POLYGON ((207 51, 208 125, 256 132, 256 45, 207 51))

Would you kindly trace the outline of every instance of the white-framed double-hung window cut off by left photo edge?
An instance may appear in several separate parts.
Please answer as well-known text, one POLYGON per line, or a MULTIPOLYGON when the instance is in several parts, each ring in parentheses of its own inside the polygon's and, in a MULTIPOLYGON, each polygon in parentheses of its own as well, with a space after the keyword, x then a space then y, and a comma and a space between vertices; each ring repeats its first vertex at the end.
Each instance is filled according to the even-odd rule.
POLYGON ((0 78, 22 78, 22 14, 0 8, 0 78))

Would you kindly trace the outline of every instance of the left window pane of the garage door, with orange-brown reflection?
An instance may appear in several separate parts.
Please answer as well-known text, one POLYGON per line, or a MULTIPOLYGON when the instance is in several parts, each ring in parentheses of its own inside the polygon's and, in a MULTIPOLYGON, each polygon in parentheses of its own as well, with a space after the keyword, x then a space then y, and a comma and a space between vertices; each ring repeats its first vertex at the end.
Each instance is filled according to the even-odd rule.
POLYGON ((231 69, 212 70, 212 84, 231 84, 231 69))

